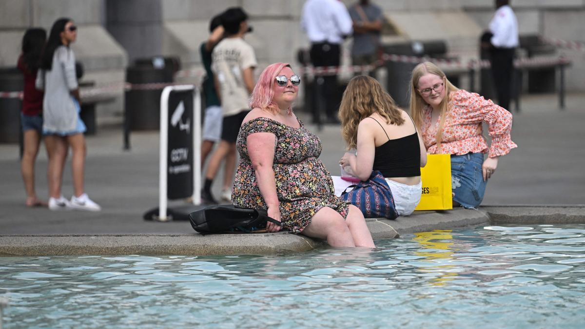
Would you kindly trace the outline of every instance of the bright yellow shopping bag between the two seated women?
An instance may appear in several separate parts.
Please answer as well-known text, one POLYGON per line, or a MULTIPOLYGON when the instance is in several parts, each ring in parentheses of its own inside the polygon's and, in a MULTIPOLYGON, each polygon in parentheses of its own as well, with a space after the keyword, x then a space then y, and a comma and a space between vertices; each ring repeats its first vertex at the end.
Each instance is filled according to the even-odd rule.
POLYGON ((422 196, 415 210, 446 210, 453 208, 451 190, 451 155, 428 154, 421 168, 422 196))

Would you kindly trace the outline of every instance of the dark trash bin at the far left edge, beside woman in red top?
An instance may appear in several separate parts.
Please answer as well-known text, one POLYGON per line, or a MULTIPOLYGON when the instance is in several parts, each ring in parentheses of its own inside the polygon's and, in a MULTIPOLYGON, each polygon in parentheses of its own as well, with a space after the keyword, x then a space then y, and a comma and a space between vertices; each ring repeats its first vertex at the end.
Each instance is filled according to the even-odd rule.
MULTIPOLYGON (((22 91, 25 80, 18 68, 0 68, 0 91, 22 91)), ((0 143, 18 143, 20 108, 18 97, 0 97, 0 143)))

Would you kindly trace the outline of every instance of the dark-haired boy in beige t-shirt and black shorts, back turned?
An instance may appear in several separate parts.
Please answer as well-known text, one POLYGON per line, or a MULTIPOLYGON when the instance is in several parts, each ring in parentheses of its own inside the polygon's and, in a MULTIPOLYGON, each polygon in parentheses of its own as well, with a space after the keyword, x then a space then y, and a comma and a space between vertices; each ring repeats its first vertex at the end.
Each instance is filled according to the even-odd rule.
MULTIPOLYGON (((236 168, 236 139, 240 125, 250 111, 248 99, 254 89, 254 67, 256 55, 243 36, 249 32, 246 12, 242 8, 229 8, 222 14, 224 38, 212 53, 211 69, 215 74, 215 85, 223 108, 221 142, 209 160, 205 174, 205 186, 201 193, 205 203, 216 203, 211 194, 211 184, 225 159, 226 174, 233 176, 236 168)), ((232 177, 226 177, 222 199, 230 201, 232 177), (229 179, 228 179, 229 178, 229 179)))

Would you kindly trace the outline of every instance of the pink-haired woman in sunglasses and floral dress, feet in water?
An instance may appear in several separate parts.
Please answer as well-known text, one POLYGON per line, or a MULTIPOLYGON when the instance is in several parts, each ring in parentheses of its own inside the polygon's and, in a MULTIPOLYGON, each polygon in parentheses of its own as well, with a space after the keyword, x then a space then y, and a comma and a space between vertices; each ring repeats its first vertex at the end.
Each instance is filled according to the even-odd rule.
POLYGON ((267 209, 281 228, 326 239, 331 246, 374 247, 360 210, 335 196, 319 160, 321 140, 292 112, 300 78, 290 65, 274 63, 260 74, 236 142, 240 161, 232 202, 267 209))

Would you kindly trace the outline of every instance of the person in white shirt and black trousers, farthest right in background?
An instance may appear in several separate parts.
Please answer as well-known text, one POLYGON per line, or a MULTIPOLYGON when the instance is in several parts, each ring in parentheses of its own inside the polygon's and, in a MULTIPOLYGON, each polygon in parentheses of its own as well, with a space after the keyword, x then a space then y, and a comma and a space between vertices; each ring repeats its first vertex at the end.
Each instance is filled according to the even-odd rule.
POLYGON ((514 52, 518 47, 518 20, 510 1, 495 0, 495 14, 490 22, 491 72, 494 77, 498 105, 510 111, 514 52))

